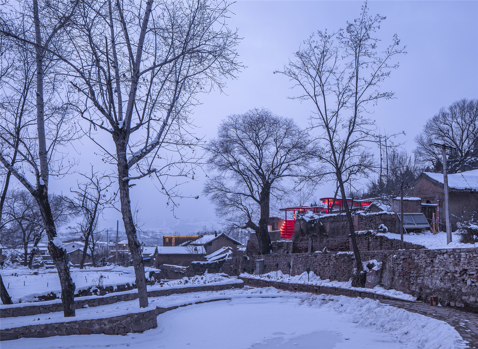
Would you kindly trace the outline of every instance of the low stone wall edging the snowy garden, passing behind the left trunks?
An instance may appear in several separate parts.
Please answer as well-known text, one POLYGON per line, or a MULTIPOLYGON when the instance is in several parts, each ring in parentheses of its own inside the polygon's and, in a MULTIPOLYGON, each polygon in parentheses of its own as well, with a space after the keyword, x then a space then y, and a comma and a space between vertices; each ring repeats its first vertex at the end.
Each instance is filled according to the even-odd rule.
MULTIPOLYGON (((188 286, 188 287, 176 287, 176 288, 164 288, 153 291, 148 291, 148 297, 161 297, 169 296, 178 293, 189 293, 189 292, 203 292, 203 291, 219 291, 219 290, 228 290, 231 288, 241 288, 242 284, 227 284, 227 285, 202 285, 202 286, 188 286)), ((75 309, 79 309, 87 305, 88 307, 98 307, 108 304, 113 304, 121 301, 130 301, 138 298, 138 293, 122 293, 112 296, 102 296, 87 299, 76 299, 75 300, 75 309)), ((33 302, 33 303, 24 303, 22 307, 19 307, 18 304, 12 305, 2 305, 0 311, 0 317, 18 317, 18 316, 28 316, 36 314, 46 314, 52 313, 55 311, 63 311, 63 305, 61 303, 53 302, 33 302), (28 305, 27 305, 28 304, 28 305), (30 305, 31 304, 31 305, 30 305)))

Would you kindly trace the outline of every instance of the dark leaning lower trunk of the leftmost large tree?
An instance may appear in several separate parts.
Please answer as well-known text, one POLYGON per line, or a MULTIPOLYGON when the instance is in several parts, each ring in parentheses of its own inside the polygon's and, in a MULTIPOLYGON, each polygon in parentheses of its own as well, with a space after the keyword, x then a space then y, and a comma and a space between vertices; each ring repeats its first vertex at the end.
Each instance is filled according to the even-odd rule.
POLYGON ((73 317, 75 316, 75 284, 71 279, 70 269, 66 262, 66 250, 56 246, 52 242, 54 238, 57 238, 57 235, 46 186, 42 185, 40 189, 37 190, 36 200, 42 212, 43 223, 45 224, 45 231, 48 236, 48 252, 52 256, 60 279, 63 314, 65 317, 73 317))

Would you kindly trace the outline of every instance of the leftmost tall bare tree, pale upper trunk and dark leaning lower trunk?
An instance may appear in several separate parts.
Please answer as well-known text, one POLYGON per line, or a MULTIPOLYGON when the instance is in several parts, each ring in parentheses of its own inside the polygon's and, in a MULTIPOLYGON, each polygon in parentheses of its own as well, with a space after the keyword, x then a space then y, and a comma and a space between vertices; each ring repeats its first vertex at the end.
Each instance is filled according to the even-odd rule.
MULTIPOLYGON (((48 196, 48 181, 51 174, 65 173, 61 163, 65 154, 58 150, 70 141, 74 127, 65 127, 70 119, 69 111, 63 103, 57 102, 60 100, 55 80, 58 61, 51 59, 49 50, 54 48, 63 51, 65 26, 73 18, 78 1, 54 4, 55 6, 51 1, 45 1, 39 5, 38 0, 33 0, 33 4, 21 3, 20 10, 11 7, 9 13, 5 11, 0 16, 1 39, 14 42, 13 47, 18 51, 32 53, 36 63, 35 98, 32 102, 36 107, 36 123, 32 126, 36 129, 26 132, 26 136, 20 140, 20 146, 15 147, 10 129, 2 122, 0 137, 5 147, 1 149, 0 161, 5 170, 11 172, 38 203, 49 240, 48 251, 60 279, 64 315, 72 317, 75 316, 75 286, 66 263, 66 250, 56 234, 48 196), (11 162, 15 151, 17 157, 21 158, 18 160, 21 161, 20 168, 11 162), (35 185, 27 180, 25 172, 33 174, 35 185)), ((8 79, 12 79, 11 75, 2 76, 2 84, 8 79)))

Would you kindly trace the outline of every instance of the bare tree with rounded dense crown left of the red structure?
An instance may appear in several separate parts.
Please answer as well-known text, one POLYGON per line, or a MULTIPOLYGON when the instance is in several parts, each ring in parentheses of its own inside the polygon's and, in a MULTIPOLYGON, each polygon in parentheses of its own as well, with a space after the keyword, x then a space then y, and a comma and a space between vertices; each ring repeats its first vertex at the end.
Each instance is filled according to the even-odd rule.
POLYGON ((215 175, 206 181, 204 192, 231 227, 253 230, 260 253, 269 254, 271 196, 282 199, 283 180, 304 175, 316 151, 309 135, 292 119, 252 109, 228 116, 205 148, 215 175))

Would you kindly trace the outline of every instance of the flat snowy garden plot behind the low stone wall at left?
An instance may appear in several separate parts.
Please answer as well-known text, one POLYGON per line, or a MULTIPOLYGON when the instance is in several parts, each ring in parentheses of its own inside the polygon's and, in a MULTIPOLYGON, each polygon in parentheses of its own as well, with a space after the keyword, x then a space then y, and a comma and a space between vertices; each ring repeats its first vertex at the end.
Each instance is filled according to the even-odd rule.
MULTIPOLYGON (((156 270, 156 269, 152 269, 156 270)), ((60 296, 60 280, 56 269, 47 269, 37 271, 38 275, 27 267, 4 269, 1 271, 1 277, 7 291, 11 296, 13 303, 32 302, 38 300, 36 297, 47 295, 53 292, 60 296), (12 275, 13 274, 13 275, 12 275), (17 274, 17 276, 14 276, 17 274)), ((145 272, 148 272, 145 268, 145 272)), ((87 289, 88 287, 98 287, 101 283, 103 287, 117 285, 133 284, 136 277, 133 267, 110 266, 102 268, 78 269, 70 268, 70 274, 76 286, 76 291, 87 289), (99 281, 100 275, 104 277, 99 281)), ((148 274, 148 273, 146 273, 148 274)))

